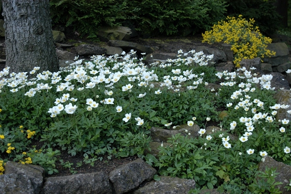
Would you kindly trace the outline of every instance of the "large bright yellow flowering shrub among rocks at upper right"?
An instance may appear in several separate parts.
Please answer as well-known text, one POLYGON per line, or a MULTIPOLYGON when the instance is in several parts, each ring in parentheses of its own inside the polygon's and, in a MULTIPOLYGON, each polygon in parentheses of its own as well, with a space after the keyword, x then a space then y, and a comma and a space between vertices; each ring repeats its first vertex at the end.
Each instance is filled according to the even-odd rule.
POLYGON ((238 18, 227 16, 226 21, 220 21, 212 30, 202 33, 203 41, 209 44, 224 42, 231 45, 234 54, 233 63, 240 67, 242 59, 264 58, 275 55, 267 49, 272 42, 269 37, 264 37, 259 28, 254 28, 254 19, 247 21, 240 15, 238 18))

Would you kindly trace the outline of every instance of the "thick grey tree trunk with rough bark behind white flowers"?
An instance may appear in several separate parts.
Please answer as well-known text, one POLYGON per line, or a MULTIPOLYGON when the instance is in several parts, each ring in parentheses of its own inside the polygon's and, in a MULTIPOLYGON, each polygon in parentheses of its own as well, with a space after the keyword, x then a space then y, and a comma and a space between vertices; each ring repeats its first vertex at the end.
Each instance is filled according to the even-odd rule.
POLYGON ((2 0, 6 66, 11 72, 59 70, 53 42, 49 0, 2 0))

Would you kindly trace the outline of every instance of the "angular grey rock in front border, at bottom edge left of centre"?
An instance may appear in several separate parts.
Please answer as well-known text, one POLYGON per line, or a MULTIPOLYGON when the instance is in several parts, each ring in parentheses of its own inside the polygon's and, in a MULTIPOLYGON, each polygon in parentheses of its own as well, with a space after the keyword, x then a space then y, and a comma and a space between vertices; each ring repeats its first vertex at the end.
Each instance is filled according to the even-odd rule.
POLYGON ((153 167, 139 158, 111 171, 109 179, 115 194, 123 194, 139 187, 145 180, 151 180, 156 173, 153 167))

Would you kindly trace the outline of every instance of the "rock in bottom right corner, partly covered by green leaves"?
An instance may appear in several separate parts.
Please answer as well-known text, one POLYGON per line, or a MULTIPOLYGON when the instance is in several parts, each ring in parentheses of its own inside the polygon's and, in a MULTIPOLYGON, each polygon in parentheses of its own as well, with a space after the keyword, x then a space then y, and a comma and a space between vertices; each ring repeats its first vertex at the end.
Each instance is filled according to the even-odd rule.
POLYGON ((290 191, 287 191, 287 189, 284 189, 285 186, 289 185, 290 179, 291 179, 291 166, 284 164, 283 162, 277 162, 273 158, 267 156, 265 158, 265 162, 259 163, 259 170, 265 171, 266 167, 275 167, 276 173, 280 173, 277 175, 275 180, 278 182, 282 182, 282 185, 277 185, 276 187, 280 189, 282 194, 290 194, 290 191))

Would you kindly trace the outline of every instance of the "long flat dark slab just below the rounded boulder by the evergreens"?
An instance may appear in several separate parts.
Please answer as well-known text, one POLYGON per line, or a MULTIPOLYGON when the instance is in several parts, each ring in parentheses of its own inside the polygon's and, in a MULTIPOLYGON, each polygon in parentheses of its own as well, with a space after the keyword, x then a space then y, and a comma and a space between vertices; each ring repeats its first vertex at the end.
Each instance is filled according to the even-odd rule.
POLYGON ((127 42, 127 41, 123 41, 123 40, 110 40, 108 42, 109 46, 112 47, 120 47, 121 49, 123 49, 126 52, 129 52, 130 50, 134 50, 137 51, 138 53, 152 53, 152 49, 137 43, 132 43, 132 42, 127 42))

